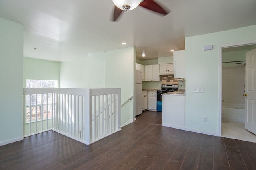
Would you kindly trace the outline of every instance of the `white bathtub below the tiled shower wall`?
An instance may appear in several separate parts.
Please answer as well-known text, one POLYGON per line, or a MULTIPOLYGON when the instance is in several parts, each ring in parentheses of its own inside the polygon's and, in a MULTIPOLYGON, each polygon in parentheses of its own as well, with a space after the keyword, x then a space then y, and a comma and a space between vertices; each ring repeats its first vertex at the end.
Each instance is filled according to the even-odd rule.
POLYGON ((222 112, 223 120, 244 122, 244 106, 222 106, 222 112))

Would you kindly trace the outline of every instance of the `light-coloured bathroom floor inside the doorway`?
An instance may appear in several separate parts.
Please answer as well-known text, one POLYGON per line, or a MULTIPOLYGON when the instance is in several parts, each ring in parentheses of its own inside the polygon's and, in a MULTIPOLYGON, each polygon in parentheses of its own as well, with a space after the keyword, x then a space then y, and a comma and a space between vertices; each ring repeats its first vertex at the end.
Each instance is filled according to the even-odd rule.
POLYGON ((222 120, 221 137, 256 142, 256 135, 244 129, 243 122, 222 120))

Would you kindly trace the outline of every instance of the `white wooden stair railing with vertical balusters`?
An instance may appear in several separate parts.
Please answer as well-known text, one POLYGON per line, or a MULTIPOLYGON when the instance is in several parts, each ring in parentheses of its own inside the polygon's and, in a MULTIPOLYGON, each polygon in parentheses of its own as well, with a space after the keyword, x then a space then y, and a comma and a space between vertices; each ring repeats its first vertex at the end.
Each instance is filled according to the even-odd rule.
POLYGON ((53 130, 89 145, 120 130, 120 88, 24 88, 24 137, 53 130))

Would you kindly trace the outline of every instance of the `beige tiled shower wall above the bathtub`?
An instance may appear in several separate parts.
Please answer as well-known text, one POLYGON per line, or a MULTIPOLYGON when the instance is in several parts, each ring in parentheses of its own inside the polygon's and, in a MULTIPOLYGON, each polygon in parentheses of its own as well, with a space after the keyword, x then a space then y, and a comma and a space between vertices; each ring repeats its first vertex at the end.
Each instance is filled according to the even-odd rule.
POLYGON ((222 67, 222 105, 244 106, 245 67, 222 67))

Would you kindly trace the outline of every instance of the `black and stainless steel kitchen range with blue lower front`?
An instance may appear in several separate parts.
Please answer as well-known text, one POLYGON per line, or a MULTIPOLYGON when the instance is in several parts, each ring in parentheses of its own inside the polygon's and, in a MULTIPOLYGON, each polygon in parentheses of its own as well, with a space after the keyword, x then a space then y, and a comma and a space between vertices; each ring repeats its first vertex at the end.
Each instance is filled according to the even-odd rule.
POLYGON ((177 84, 162 84, 161 90, 156 91, 156 111, 162 111, 163 93, 178 91, 177 84))

